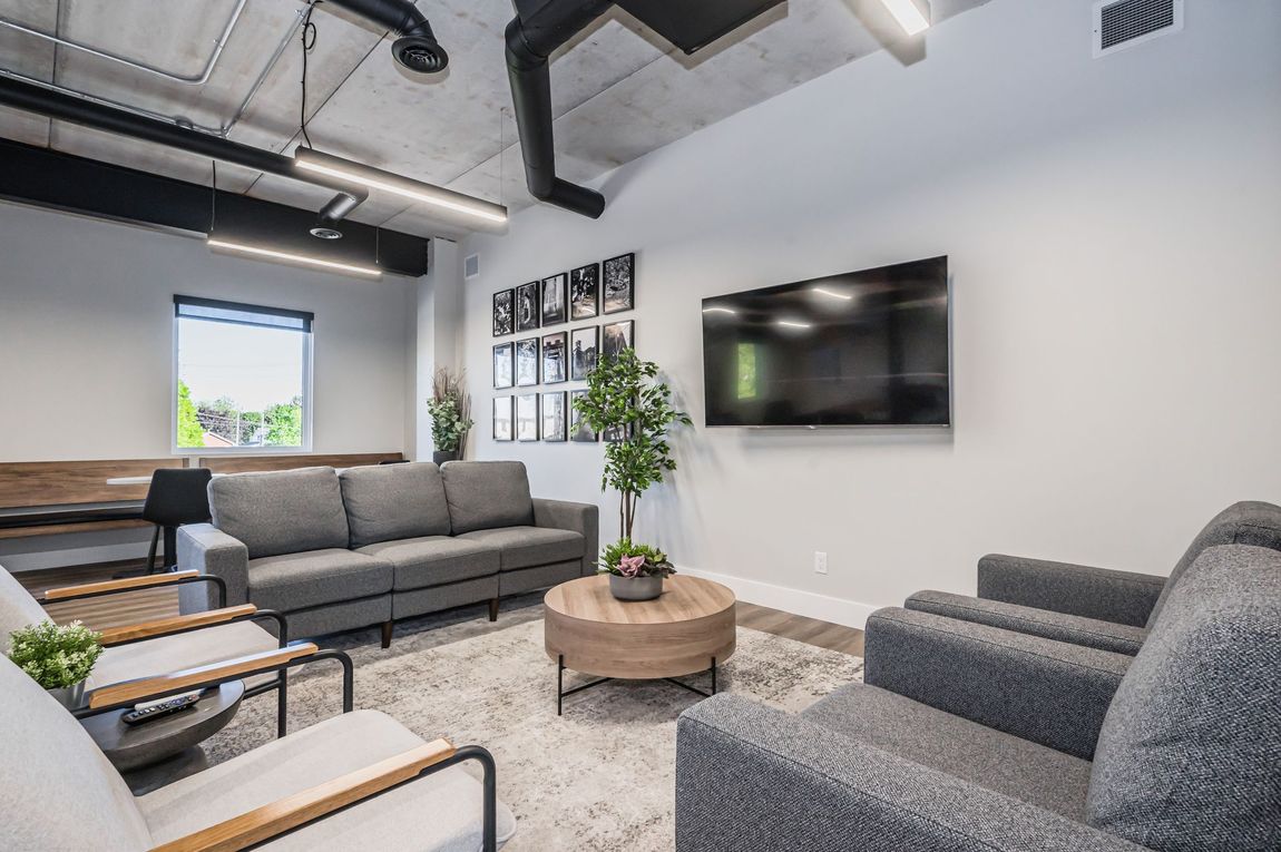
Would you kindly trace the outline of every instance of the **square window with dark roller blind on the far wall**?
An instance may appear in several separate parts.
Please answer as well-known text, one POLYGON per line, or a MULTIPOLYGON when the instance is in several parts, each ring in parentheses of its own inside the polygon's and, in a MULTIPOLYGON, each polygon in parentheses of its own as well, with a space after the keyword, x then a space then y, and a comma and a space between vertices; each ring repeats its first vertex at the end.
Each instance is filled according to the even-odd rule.
POLYGON ((313 315, 174 296, 177 451, 311 448, 313 315))

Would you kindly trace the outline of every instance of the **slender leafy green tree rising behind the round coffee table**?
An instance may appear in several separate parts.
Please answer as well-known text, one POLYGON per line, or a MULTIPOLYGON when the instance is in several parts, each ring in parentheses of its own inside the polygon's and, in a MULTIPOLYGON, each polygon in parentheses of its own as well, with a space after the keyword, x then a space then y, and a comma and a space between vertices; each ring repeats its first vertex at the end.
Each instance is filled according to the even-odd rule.
POLYGON ((606 436, 601 491, 619 492, 619 534, 628 541, 640 495, 676 469, 667 432, 676 424, 690 425, 689 415, 673 407, 671 388, 657 375, 657 364, 625 348, 603 357, 587 377, 587 393, 574 400, 583 420, 606 436))

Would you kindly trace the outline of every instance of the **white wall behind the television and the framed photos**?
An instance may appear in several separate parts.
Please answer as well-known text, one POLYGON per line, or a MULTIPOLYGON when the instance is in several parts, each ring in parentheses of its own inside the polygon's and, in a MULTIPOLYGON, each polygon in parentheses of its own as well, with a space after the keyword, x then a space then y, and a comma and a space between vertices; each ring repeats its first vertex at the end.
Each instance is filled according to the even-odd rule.
POLYGON ((638 534, 748 600, 858 624, 972 591, 989 551, 1168 573, 1228 502, 1281 501, 1281 4, 1187 0, 1182 33, 1104 60, 1090 5, 994 0, 920 63, 861 59, 619 169, 597 222, 470 240, 478 455, 616 532, 598 446, 492 442, 489 300, 635 250, 639 352, 699 424, 638 534), (702 297, 939 254, 951 434, 701 425, 702 297))

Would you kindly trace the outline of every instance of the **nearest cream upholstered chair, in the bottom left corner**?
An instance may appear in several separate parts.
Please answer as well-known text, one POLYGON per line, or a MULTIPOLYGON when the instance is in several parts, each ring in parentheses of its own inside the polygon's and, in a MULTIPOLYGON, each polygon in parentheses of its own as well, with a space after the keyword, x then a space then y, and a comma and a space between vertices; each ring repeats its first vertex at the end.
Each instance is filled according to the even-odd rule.
POLYGON ((347 712, 135 798, 65 710, 0 659, 0 848, 496 849, 515 819, 478 747, 347 712), (478 760, 484 783, 456 764, 478 760))

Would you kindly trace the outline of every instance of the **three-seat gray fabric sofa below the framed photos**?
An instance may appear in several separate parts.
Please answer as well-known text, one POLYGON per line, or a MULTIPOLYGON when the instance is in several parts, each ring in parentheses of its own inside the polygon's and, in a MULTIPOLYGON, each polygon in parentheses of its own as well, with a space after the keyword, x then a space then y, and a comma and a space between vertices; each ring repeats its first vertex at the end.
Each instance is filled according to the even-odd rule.
MULTIPOLYGON (((291 638, 383 627, 594 571, 597 507, 534 500, 519 461, 306 468, 215 477, 210 524, 178 565, 227 582, 227 605, 286 612, 291 638)), ((182 611, 209 607, 188 588, 182 611)))

